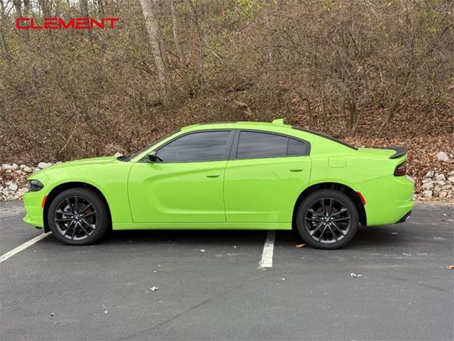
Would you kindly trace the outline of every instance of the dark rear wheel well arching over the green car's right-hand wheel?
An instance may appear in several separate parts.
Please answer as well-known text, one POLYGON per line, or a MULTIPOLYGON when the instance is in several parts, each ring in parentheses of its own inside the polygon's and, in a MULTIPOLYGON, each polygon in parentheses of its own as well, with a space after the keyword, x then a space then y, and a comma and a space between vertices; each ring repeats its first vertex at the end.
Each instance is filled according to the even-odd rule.
MULTIPOLYGON (((366 217, 366 211, 364 208, 364 205, 362 205, 360 196, 358 193, 356 193, 355 190, 352 188, 348 187, 347 185, 343 185, 341 183, 317 183, 316 185, 311 185, 310 187, 306 188, 303 190, 303 192, 299 195, 297 202, 295 202, 294 208, 293 208, 293 217, 292 217, 292 224, 294 225, 295 219, 297 217, 297 210, 299 207, 299 204, 301 203, 304 198, 315 192, 316 190, 338 190, 339 192, 344 193, 350 199, 353 201, 353 203, 356 206, 356 209, 358 210, 358 215, 360 215, 360 223, 362 226, 366 226, 367 224, 367 217, 366 217)), ((295 227, 295 226, 293 226, 295 227)))

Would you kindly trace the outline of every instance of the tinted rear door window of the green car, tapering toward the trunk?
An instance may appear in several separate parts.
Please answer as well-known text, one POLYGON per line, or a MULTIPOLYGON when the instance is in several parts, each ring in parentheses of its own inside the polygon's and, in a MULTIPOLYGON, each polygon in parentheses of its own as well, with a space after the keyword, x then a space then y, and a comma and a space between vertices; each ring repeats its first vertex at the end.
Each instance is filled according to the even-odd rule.
POLYGON ((306 155, 303 141, 256 131, 240 131, 236 158, 277 158, 306 155))

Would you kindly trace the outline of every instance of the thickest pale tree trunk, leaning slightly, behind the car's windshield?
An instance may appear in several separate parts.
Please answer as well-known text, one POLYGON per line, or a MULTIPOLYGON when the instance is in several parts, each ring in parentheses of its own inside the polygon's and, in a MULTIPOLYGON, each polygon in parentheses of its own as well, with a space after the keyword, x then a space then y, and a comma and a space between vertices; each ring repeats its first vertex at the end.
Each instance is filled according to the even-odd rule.
POLYGON ((163 92, 162 104, 165 107, 172 107, 175 104, 175 90, 172 86, 172 75, 169 70, 169 62, 167 60, 167 50, 162 39, 159 23, 156 18, 156 9, 153 0, 140 0, 142 6, 143 17, 147 27, 148 37, 153 49, 153 58, 159 78, 160 87, 163 92))

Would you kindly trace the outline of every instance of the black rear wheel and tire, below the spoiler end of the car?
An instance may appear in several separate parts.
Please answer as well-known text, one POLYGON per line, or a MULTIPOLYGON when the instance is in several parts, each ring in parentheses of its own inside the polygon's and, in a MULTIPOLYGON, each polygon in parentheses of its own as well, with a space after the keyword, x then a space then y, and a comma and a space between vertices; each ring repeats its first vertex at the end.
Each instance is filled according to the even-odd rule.
POLYGON ((340 249, 355 237, 358 221, 358 210, 350 197, 338 190, 317 190, 301 201, 296 226, 311 247, 340 249))

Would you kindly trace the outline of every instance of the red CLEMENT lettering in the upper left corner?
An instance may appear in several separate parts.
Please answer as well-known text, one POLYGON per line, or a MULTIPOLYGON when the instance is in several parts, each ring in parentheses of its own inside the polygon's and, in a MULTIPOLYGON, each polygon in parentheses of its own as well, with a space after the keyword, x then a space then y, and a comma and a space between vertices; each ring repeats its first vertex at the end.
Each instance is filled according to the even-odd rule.
POLYGON ((114 28, 114 23, 120 21, 120 18, 100 18, 99 21, 94 18, 72 18, 64 21, 62 18, 44 18, 43 25, 35 24, 33 18, 17 18, 16 28, 19 30, 92 30, 93 28, 114 28))

